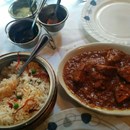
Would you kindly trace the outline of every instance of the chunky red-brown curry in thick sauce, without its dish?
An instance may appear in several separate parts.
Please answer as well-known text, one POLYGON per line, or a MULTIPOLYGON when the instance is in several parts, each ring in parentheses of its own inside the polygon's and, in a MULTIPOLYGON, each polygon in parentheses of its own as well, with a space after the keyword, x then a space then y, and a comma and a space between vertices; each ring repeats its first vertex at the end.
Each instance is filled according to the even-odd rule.
POLYGON ((82 52, 67 61, 63 78, 69 89, 90 106, 130 108, 130 55, 122 51, 82 52))

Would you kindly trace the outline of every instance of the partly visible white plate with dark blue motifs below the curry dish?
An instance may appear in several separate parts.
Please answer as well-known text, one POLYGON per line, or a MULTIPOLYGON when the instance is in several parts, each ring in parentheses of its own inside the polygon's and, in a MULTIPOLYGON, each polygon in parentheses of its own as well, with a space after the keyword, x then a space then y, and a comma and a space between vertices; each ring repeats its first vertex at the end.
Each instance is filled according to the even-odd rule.
POLYGON ((122 128, 130 129, 120 118, 98 115, 83 108, 71 108, 52 115, 36 130, 122 130, 122 128))

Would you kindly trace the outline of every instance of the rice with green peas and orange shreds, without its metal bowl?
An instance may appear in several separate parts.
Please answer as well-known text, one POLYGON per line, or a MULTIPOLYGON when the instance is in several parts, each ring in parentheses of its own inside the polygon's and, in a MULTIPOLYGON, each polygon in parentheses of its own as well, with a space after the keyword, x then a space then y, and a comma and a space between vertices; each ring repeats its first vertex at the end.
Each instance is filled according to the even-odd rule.
POLYGON ((18 78, 23 61, 13 61, 0 74, 0 125, 9 126, 32 117, 49 94, 49 76, 36 62, 30 62, 18 78))

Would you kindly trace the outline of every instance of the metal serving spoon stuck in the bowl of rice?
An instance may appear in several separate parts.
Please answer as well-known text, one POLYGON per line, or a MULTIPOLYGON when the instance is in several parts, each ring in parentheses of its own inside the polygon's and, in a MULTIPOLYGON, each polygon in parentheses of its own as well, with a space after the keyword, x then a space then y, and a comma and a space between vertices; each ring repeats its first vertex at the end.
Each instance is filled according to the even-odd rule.
POLYGON ((40 41, 35 46, 34 50, 32 51, 31 55, 27 59, 27 61, 23 64, 23 66, 18 71, 18 77, 24 72, 26 66, 32 61, 32 59, 36 56, 36 54, 46 46, 46 44, 49 42, 50 38, 47 34, 42 35, 40 38, 40 41))

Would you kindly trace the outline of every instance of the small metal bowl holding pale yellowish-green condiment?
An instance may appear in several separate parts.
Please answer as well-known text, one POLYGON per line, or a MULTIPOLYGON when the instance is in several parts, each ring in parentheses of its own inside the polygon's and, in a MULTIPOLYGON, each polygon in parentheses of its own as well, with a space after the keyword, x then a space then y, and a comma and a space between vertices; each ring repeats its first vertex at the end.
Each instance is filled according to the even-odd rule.
POLYGON ((37 4, 34 2, 30 8, 27 1, 17 0, 10 5, 8 12, 14 19, 30 18, 36 14, 37 4))

